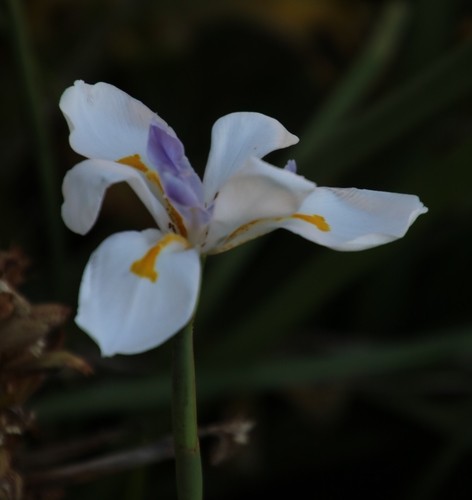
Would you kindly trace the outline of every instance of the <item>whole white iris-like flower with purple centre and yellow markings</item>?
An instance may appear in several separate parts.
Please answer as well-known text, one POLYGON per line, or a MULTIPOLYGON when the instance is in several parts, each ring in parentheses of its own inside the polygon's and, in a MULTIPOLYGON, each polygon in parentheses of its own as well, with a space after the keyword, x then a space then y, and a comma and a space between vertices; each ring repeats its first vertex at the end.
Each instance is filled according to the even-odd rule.
POLYGON ((156 228, 107 238, 91 256, 77 324, 102 354, 133 354, 163 343, 191 318, 200 256, 223 252, 277 228, 337 250, 401 238, 427 211, 418 197, 321 188, 262 158, 298 139, 277 120, 232 113, 213 126, 203 180, 175 132, 141 102, 106 83, 75 82, 60 101, 72 148, 87 159, 63 184, 62 216, 85 234, 107 188, 126 182, 156 228))

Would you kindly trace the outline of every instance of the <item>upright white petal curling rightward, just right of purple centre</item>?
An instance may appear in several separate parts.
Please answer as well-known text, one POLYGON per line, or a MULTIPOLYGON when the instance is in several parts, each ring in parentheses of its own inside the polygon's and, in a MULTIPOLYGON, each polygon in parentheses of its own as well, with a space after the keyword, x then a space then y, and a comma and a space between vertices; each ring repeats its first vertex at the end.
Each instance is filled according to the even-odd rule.
POLYGON ((274 118, 260 113, 231 113, 215 122, 203 178, 205 201, 211 203, 221 186, 248 158, 263 158, 298 142, 274 118))

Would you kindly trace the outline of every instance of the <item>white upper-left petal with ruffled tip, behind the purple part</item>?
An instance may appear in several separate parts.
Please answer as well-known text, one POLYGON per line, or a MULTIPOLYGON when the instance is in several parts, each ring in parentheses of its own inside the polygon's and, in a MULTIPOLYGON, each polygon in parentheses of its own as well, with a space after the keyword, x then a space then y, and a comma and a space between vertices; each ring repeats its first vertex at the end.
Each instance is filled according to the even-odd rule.
POLYGON ((139 154, 146 159, 149 125, 155 113, 108 83, 76 81, 62 94, 59 107, 70 128, 70 145, 87 158, 118 160, 139 154))

